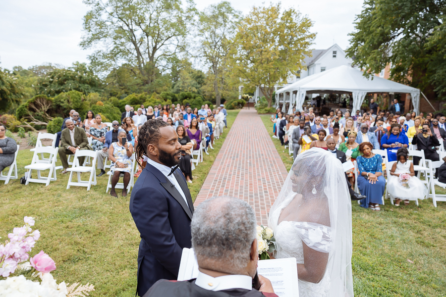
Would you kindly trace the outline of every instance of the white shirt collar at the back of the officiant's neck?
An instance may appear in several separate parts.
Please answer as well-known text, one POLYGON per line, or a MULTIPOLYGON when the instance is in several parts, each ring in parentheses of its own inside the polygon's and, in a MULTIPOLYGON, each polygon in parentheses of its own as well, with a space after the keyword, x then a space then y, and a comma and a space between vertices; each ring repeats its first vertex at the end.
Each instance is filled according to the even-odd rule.
POLYGON ((203 272, 198 273, 195 285, 209 291, 223 291, 230 289, 252 290, 252 278, 249 275, 224 275, 212 277, 203 272))

